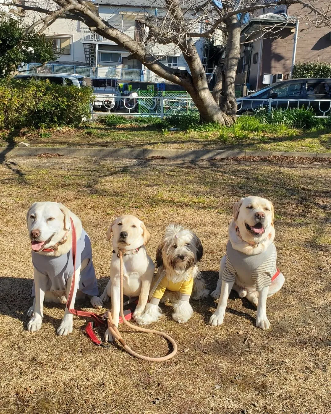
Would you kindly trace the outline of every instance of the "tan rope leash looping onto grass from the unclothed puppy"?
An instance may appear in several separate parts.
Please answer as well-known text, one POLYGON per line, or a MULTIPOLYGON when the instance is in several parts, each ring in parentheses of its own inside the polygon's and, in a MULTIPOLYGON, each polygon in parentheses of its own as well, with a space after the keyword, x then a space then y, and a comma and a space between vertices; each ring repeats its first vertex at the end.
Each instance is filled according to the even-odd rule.
POLYGON ((121 313, 121 317, 123 320, 123 323, 125 325, 127 325, 128 327, 130 327, 131 329, 138 331, 138 332, 145 332, 148 334, 154 334, 154 335, 159 335, 162 336, 163 338, 165 338, 167 341, 170 342, 170 344, 173 345, 173 351, 170 352, 170 354, 165 355, 165 356, 160 356, 158 358, 154 358, 152 356, 144 356, 144 355, 140 355, 137 352, 134 352, 125 342, 125 340, 122 338, 122 335, 120 334, 120 332, 118 331, 117 327, 114 325, 113 322, 113 318, 111 317, 111 313, 110 311, 108 312, 108 319, 107 319, 107 324, 108 324, 108 329, 110 330, 111 334, 113 335, 113 337, 115 339, 118 340, 118 342, 120 342, 120 344, 122 345, 122 347, 125 349, 125 351, 127 351, 128 354, 131 354, 132 356, 135 356, 136 358, 139 359, 143 359, 144 361, 154 361, 154 362, 162 362, 162 361, 166 361, 167 359, 172 358, 173 356, 175 356, 175 354, 177 353, 177 344, 174 341, 174 339, 172 337, 170 337, 169 335, 165 334, 164 332, 160 332, 160 331, 156 331, 154 329, 146 329, 146 328, 142 328, 140 326, 134 326, 131 325, 131 323, 129 323, 124 316, 124 311, 123 311, 123 253, 121 250, 119 250, 119 257, 120 257, 120 313, 121 313))

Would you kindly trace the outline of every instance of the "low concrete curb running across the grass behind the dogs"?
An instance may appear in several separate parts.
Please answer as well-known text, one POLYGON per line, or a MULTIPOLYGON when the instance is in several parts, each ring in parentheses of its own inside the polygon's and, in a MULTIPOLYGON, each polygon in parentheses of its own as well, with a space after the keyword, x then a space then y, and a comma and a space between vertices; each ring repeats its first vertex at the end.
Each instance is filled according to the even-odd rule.
POLYGON ((227 151, 217 149, 140 149, 140 148, 75 148, 75 147, 0 147, 0 158, 4 156, 35 156, 38 154, 60 154, 70 157, 133 158, 133 159, 178 159, 211 160, 241 156, 285 156, 300 158, 331 158, 331 153, 316 152, 272 152, 272 151, 227 151))

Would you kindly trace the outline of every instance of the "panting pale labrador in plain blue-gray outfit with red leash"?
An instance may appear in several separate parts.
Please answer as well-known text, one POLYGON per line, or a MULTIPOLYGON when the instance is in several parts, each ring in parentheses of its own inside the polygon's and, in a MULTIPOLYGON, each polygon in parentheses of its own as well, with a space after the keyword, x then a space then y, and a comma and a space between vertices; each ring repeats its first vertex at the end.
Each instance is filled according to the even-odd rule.
MULTIPOLYGON (((102 307, 102 301, 98 298, 91 241, 82 227, 82 222, 61 203, 34 203, 26 215, 34 265, 34 303, 27 313, 31 317, 27 326, 29 332, 36 332, 41 328, 44 300, 62 304, 67 302, 66 297, 69 295, 74 273, 70 218, 77 237, 77 269, 71 305, 74 307, 76 296, 87 295, 92 306, 102 307)), ((71 332, 72 314, 66 308, 57 334, 68 335, 71 332)))

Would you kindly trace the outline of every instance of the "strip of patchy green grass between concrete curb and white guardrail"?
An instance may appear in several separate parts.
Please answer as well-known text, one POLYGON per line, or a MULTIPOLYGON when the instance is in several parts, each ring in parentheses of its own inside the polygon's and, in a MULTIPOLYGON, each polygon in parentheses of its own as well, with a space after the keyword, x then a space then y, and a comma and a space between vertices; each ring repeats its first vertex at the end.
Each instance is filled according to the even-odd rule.
MULTIPOLYGON (((126 147, 168 149, 242 149, 251 151, 331 152, 331 133, 328 130, 285 132, 233 132, 205 130, 172 131, 155 126, 118 125, 106 127, 90 123, 80 129, 2 132, 0 146, 29 142, 38 147, 126 147), (236 136, 237 135, 237 136, 236 136)), ((282 125, 280 126, 282 127, 282 125)))

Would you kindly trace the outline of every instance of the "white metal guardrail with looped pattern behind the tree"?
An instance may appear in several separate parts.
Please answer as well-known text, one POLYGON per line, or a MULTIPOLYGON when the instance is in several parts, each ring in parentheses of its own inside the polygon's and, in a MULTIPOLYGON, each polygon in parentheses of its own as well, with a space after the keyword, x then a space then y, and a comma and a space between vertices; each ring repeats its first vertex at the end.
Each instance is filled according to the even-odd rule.
MULTIPOLYGON (((138 96, 133 98, 130 96, 108 97, 107 95, 103 95, 102 100, 99 98, 96 98, 96 100, 98 102, 102 102, 102 106, 106 108, 107 113, 110 113, 111 111, 117 115, 154 115, 163 118, 165 115, 197 111, 197 107, 195 106, 193 99, 190 97, 170 98, 166 96, 138 96)), ((237 111, 242 109, 243 103, 245 102, 251 102, 250 106, 246 107, 245 110, 252 112, 263 107, 267 108, 268 112, 271 112, 272 108, 278 109, 279 102, 281 102, 282 108, 284 109, 288 109, 291 102, 296 103, 295 107, 297 108, 300 108, 303 103, 308 103, 307 109, 311 107, 312 103, 318 103, 318 107, 315 106, 314 110, 317 111, 318 109, 319 112, 317 112, 317 114, 321 113, 321 115, 316 115, 316 118, 326 118, 331 116, 331 99, 244 99, 238 103, 237 111), (253 103, 256 101, 261 102, 261 104, 254 106, 253 103), (324 102, 326 103, 326 107, 321 108, 321 103, 324 102), (276 103, 276 105, 273 106, 273 103, 276 103)), ((102 112, 97 112, 100 115, 102 114, 102 112)))

